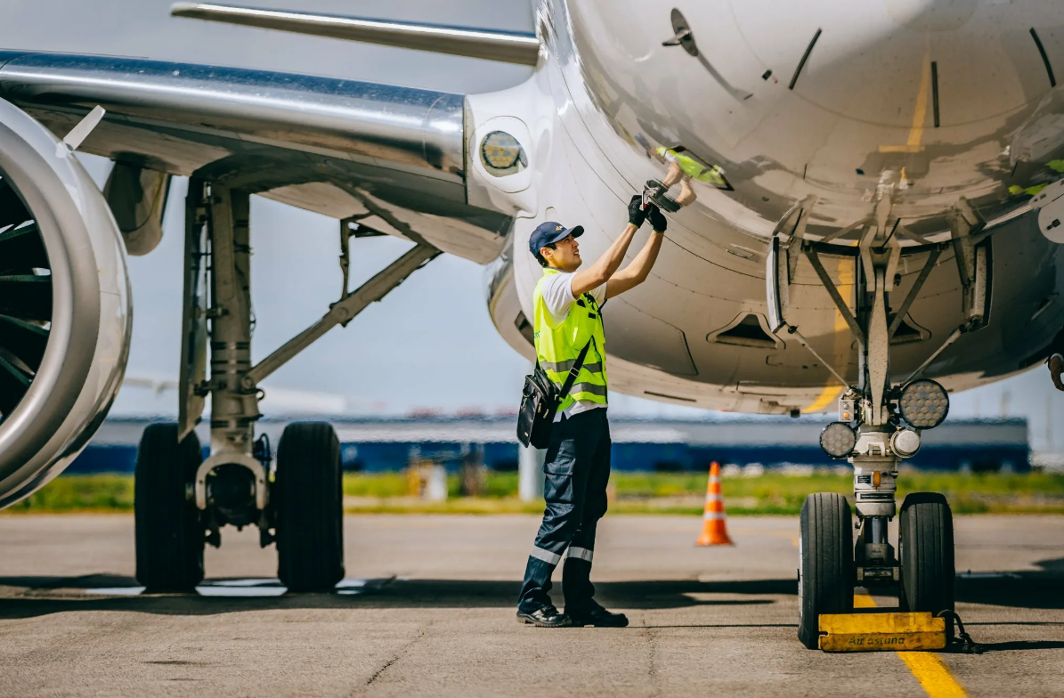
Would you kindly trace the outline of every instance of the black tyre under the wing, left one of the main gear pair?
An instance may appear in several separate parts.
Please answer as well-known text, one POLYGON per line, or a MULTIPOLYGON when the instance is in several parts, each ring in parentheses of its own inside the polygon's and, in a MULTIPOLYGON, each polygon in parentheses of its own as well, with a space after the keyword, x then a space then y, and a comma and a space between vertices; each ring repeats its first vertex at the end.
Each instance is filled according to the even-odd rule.
POLYGON ((203 462, 199 438, 149 425, 136 452, 133 510, 136 579, 148 592, 194 592, 203 581, 203 528, 187 485, 203 462))

